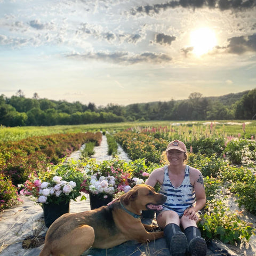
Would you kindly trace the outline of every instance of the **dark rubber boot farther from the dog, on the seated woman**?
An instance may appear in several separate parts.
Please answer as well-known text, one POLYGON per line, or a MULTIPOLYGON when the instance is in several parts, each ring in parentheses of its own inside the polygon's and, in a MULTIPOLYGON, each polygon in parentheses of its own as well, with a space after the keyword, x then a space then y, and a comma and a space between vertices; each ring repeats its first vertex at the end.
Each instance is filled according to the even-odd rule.
POLYGON ((188 253, 191 256, 205 256, 207 252, 207 245, 201 231, 197 227, 187 227, 184 233, 188 240, 188 253))

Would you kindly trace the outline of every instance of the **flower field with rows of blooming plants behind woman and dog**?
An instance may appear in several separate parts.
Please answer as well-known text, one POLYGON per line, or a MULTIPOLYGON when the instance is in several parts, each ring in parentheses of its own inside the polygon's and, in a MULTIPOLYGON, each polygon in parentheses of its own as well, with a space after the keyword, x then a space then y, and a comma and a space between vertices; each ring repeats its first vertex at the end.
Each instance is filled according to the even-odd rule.
MULTIPOLYGON (((78 189, 86 193, 103 193, 103 196, 126 191, 128 186, 145 180, 151 171, 166 164, 163 151, 170 141, 179 139, 186 143, 189 151, 188 165, 199 169, 204 176, 207 204, 199 223, 203 236, 229 243, 246 241, 254 232, 250 223, 241 220, 242 213, 231 212, 215 195, 225 198, 222 191, 228 190, 239 206, 256 213, 255 124, 141 122, 123 126, 58 126, 49 127, 48 131, 45 127, 38 127, 38 132, 35 127, 30 131, 27 127, 15 127, 13 137, 11 130, 1 127, 0 210, 17 203, 17 185, 23 183, 26 186, 26 181, 33 177, 32 189, 36 189, 34 192, 38 198, 42 195, 46 197, 42 200, 51 200, 50 196, 55 196, 58 190, 58 186, 55 190, 53 187, 58 184, 63 184, 58 187, 62 189, 58 193, 65 194, 69 199, 79 194, 78 189), (74 132, 70 133, 72 129, 74 132), (99 129, 111 134, 111 147, 114 147, 113 138, 122 146, 132 160, 130 163, 115 159, 99 165, 93 159, 83 158, 78 163, 78 169, 83 174, 77 173, 78 180, 67 179, 64 173, 58 172, 51 172, 52 177, 48 180, 41 179, 44 177, 42 173, 47 174, 49 166, 53 170, 54 166, 61 166, 63 157, 79 149, 83 143, 100 143, 102 135, 95 132, 99 129), (8 136, 4 137, 1 132, 8 136), (61 180, 65 182, 61 183, 61 180), (44 183, 42 188, 44 181, 48 184, 44 187, 44 183), (38 194, 40 189, 46 189, 44 194, 38 194)), ((31 183, 27 182, 29 185, 31 183)))

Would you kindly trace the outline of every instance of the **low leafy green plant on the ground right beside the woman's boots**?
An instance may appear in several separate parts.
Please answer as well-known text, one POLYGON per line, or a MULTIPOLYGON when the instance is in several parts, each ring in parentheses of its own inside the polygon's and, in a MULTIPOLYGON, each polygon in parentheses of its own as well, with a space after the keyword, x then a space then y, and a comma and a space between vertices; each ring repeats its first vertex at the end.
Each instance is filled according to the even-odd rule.
POLYGON ((253 228, 241 220, 239 213, 229 211, 221 200, 208 203, 202 221, 198 223, 205 239, 218 238, 223 243, 247 241, 254 234, 253 228))

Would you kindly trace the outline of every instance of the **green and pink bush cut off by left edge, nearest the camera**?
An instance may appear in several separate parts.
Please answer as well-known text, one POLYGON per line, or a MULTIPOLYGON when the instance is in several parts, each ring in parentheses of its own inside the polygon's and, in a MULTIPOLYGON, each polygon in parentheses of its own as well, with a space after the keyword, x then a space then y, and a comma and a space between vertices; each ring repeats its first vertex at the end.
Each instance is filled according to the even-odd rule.
POLYGON ((0 173, 0 212, 18 203, 17 188, 12 181, 0 173))

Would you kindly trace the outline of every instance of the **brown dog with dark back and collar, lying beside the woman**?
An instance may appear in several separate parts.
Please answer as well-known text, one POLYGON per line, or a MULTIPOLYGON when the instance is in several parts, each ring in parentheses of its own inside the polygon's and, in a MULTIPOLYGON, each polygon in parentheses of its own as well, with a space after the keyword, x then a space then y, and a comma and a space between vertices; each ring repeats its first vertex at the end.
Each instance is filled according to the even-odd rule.
POLYGON ((158 226, 142 224, 142 210, 162 210, 166 196, 149 185, 136 185, 107 206, 66 213, 47 230, 39 256, 79 256, 91 246, 108 249, 129 240, 145 243, 164 236, 158 226), (148 232, 151 231, 151 232, 148 232))

